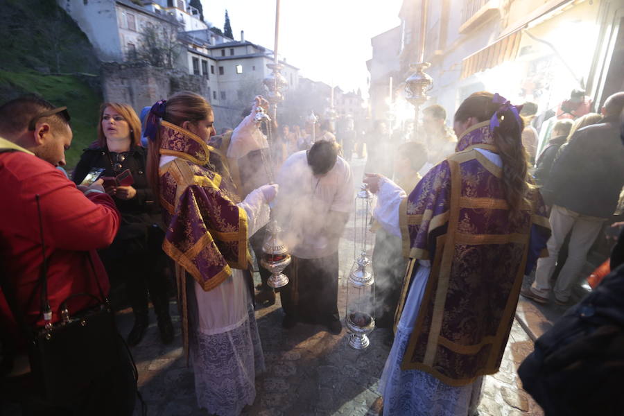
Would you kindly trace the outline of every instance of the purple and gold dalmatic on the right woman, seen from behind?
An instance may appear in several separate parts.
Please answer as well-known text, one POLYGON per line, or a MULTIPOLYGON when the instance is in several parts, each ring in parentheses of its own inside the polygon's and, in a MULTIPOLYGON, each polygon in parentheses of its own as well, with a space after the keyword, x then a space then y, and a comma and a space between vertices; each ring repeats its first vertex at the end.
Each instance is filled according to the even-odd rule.
POLYGON ((410 266, 397 318, 417 259, 432 267, 401 368, 453 386, 499 370, 525 268, 545 254, 550 236, 539 191, 530 186, 510 220, 502 170, 477 149, 498 152, 489 121, 467 130, 457 153, 433 167, 400 210, 410 266))

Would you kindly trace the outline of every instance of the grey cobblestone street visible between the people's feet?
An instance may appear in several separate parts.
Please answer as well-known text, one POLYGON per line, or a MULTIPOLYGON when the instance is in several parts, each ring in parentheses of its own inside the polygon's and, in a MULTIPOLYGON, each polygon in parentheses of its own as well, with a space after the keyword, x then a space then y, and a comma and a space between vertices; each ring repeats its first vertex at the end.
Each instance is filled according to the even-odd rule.
MULTIPOLYGON (((363 173, 363 164, 362 159, 352 163, 356 184, 363 173)), ((354 260, 349 229, 345 236, 340 248, 339 310, 343 320, 344 277, 354 260)), ((524 304, 525 310, 532 307, 526 301, 524 304)), ((177 320, 173 302, 171 311, 177 320)), ((533 312, 530 325, 540 325, 537 320, 544 315, 533 312)), ((297 324, 287 331, 281 327, 282 317, 279 296, 275 305, 257 311, 266 372, 257 377, 256 400, 245 408, 243 415, 376 415, 379 411, 376 388, 390 352, 390 331, 375 329, 370 336, 370 347, 356 351, 347 345, 345 329, 338 336, 331 335, 324 327, 308 324, 297 324)), ((128 333, 132 326, 131 314, 121 315, 120 324, 122 333, 128 333)), ((516 374, 519 363, 532 348, 530 336, 514 320, 501 371, 485 379, 481 416, 543 415, 522 390, 516 374)), ((179 329, 175 343, 164 347, 159 342, 154 322, 146 339, 133 352, 139 367, 140 390, 148 403, 148 415, 206 415, 196 404, 193 372, 182 356, 179 329)))

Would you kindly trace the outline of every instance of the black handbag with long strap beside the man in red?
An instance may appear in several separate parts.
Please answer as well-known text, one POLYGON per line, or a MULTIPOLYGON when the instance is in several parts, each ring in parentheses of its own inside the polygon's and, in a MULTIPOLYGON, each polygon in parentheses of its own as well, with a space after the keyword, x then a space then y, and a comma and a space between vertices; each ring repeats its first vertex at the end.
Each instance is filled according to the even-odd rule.
MULTIPOLYGON (((39 209, 38 195, 37 209, 39 209)), ((40 223, 42 223, 41 212, 40 223)), ((15 320, 26 336, 31 376, 37 389, 37 396, 51 406, 80 407, 81 401, 89 396, 89 389, 97 385, 96 381, 115 370, 127 374, 132 372, 135 381, 132 394, 135 394, 137 368, 130 350, 116 329, 110 302, 96 277, 89 252, 85 252, 85 255, 94 272, 100 297, 89 293, 69 296, 60 304, 60 321, 51 323, 52 311, 48 301, 47 261, 42 229, 40 233, 43 263, 39 288, 44 327, 33 328, 28 325, 24 321, 24 316, 19 313, 15 297, 6 290, 6 287, 3 288, 15 320), (94 301, 94 306, 81 311, 69 311, 67 306, 69 300, 81 296, 90 297, 94 301)))

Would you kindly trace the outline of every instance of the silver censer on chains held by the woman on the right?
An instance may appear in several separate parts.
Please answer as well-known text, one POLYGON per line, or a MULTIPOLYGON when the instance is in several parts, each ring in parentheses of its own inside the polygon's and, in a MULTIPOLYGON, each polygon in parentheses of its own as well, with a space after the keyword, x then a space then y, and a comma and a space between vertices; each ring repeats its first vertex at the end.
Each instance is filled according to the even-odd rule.
POLYGON ((366 184, 361 185, 361 190, 355 200, 356 211, 354 214, 354 248, 357 257, 349 272, 347 279, 347 313, 345 321, 347 329, 351 332, 349 346, 355 349, 365 349, 370 345, 368 334, 375 327, 374 319, 374 277, 372 275, 371 261, 366 256, 367 229, 370 216, 372 195, 366 184))

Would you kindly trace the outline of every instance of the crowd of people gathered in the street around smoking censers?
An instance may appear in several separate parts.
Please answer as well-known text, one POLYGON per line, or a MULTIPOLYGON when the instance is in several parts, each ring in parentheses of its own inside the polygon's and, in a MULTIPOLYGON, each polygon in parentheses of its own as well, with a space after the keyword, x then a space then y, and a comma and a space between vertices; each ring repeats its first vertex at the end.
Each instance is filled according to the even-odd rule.
POLYGON ((269 143, 254 122, 256 108, 268 105, 261 96, 218 135, 210 103, 192 92, 154 103, 142 121, 130 105, 103 103, 97 139, 71 177, 62 169, 72 141, 67 109, 38 96, 4 103, 3 399, 19 401, 26 415, 132 414, 137 377, 121 341, 110 351, 116 365, 90 374, 69 401, 42 390, 51 370, 33 361, 33 345, 45 345, 40 334, 55 339, 70 315, 109 307, 112 284, 125 287, 119 293, 134 314, 130 346, 144 338, 149 300, 162 343, 173 342, 177 295, 198 406, 239 415, 264 370, 254 302, 276 297, 258 264, 271 212, 292 255, 291 281, 279 290, 282 326, 321 324, 340 334, 338 242, 354 205, 349 161, 367 153, 363 181, 377 196, 376 321, 393 330, 379 388, 383 414, 476 415, 519 295, 546 303, 553 290, 554 301, 567 304, 618 208, 624 92, 607 98, 600 114, 581 95, 545 118, 533 103, 475 93, 452 128, 444 107, 424 108, 408 141, 384 121, 359 135, 347 120, 338 132, 329 121, 273 125, 269 143), (275 166, 267 168, 268 159, 275 166), (551 289, 557 263, 564 266, 551 289), (522 288, 536 265, 534 283, 522 288))

